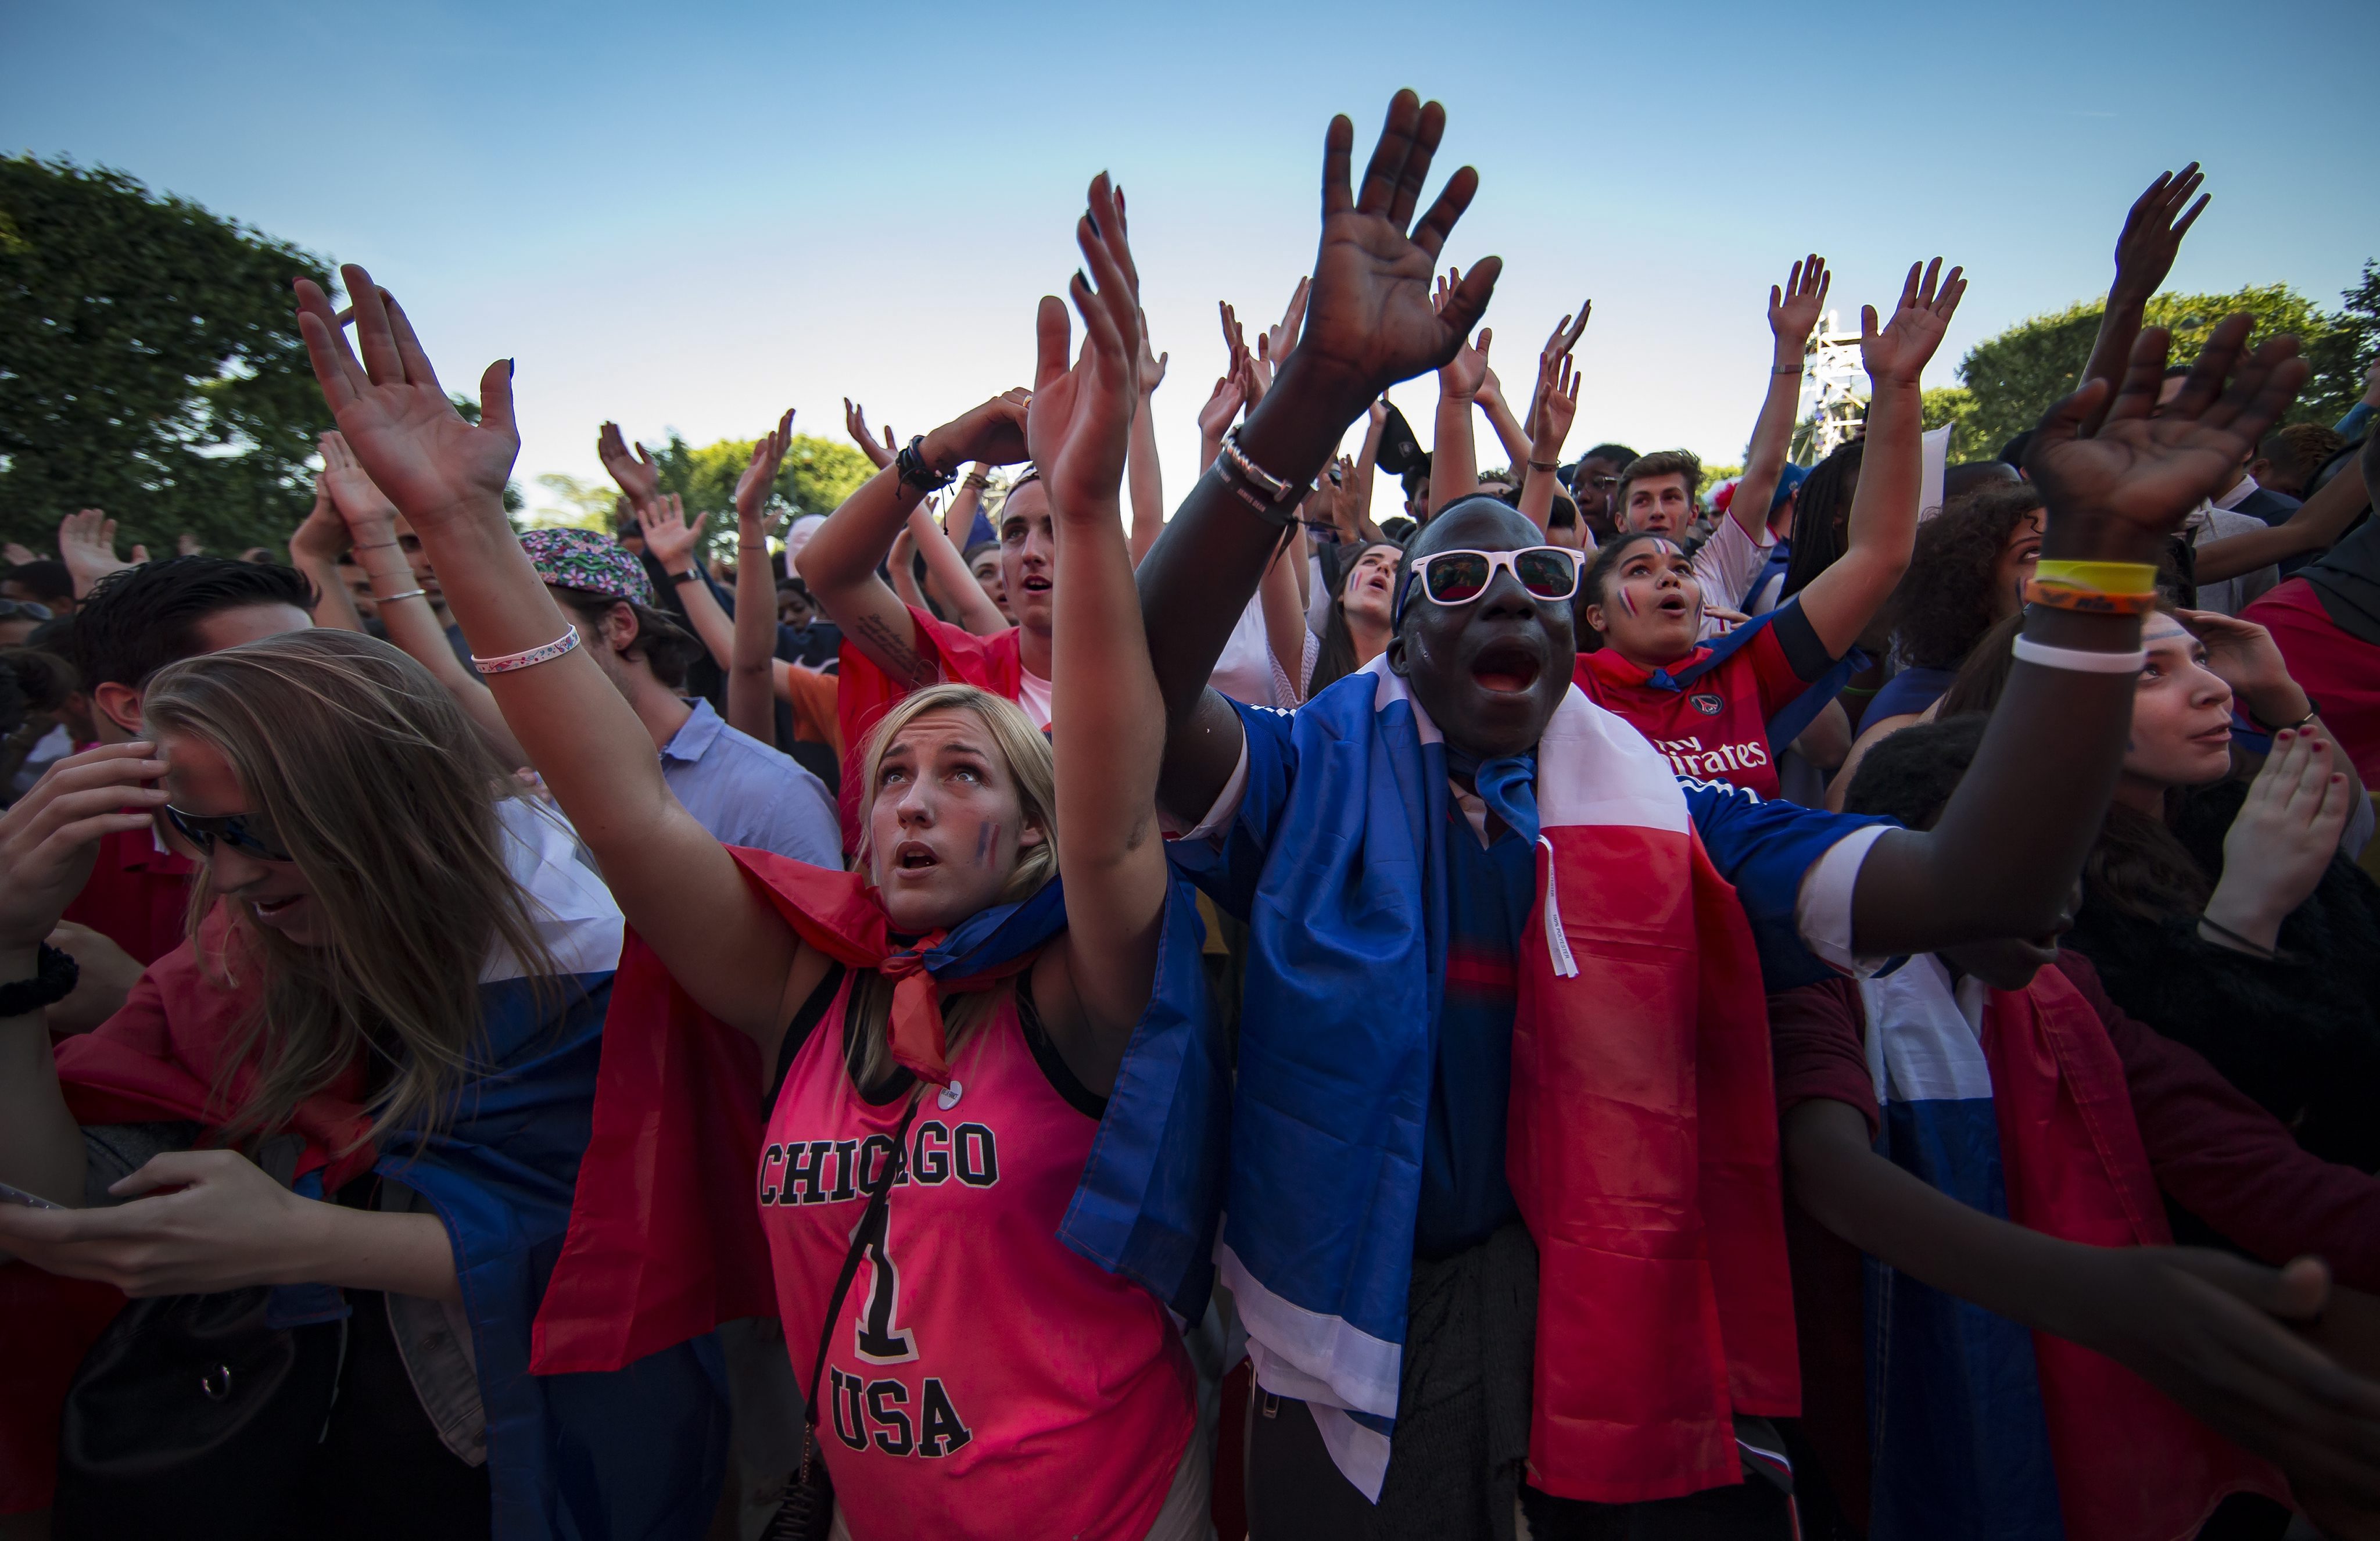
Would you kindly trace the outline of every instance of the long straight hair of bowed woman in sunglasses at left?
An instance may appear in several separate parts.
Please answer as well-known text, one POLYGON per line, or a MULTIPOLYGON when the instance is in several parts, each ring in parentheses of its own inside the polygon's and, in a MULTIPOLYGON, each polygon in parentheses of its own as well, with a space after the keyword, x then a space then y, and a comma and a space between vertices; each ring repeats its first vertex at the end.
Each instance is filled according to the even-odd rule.
MULTIPOLYGON (((157 672, 150 734, 205 738, 305 874, 321 946, 302 948, 231 905, 262 988, 217 1067, 255 1081, 226 1143, 278 1131, 357 1060, 371 1084, 364 1138, 436 1129, 478 1069, 478 977, 509 948, 555 972, 531 898, 505 862, 497 803, 512 776, 428 669, 355 631, 290 631, 157 672)), ((190 931, 214 907, 212 865, 190 931)))

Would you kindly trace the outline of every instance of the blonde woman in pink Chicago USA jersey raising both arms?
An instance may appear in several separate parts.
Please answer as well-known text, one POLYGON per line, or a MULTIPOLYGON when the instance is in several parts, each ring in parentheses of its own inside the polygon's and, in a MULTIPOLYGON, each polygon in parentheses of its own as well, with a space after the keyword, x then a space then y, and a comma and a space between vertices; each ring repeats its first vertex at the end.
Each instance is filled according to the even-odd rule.
MULTIPOLYGON (((681 1231, 640 1241, 609 1208, 697 1162, 688 1141, 766 1096, 766 1143, 750 1136, 709 1198, 738 1210, 719 1219, 731 1229, 752 1227, 757 1208, 835 1524, 862 1541, 1140 1541, 1209 1524, 1192 1372, 1166 1305, 1092 1262, 1078 1227, 1085 1165, 1130 1143, 1109 1103, 1135 1105, 1126 1050, 1138 1065, 1135 1024, 1161 957, 1178 953, 1166 938, 1197 948, 1157 831, 1154 676, 1142 648, 1121 645, 1140 626, 1121 522, 1140 343, 1104 176, 1078 243, 1097 279, 1073 279, 1088 343, 1069 369, 1066 310, 1042 300, 1026 419, 1071 564, 1054 612, 1054 755, 1009 700, 950 684, 907 695, 864 745, 850 874, 724 848, 669 798, 635 719, 505 524, 509 367, 486 374, 486 417, 464 424, 369 274, 345 269, 362 362, 321 291, 298 286, 340 431, 433 553, 505 719, 640 946, 683 986, 631 1012, 624 981, 607 1105, 614 1086, 638 1098, 683 1079, 671 1055, 712 1024, 750 1043, 735 1046, 747 1081, 712 1105, 709 1129, 597 1110, 571 1253, 626 1274, 640 1303, 731 1293, 707 1272, 669 1274, 681 1231), (676 1005, 693 1019, 666 1017, 683 1036, 654 1048, 676 1005), (614 1081, 614 1058, 647 1065, 631 1058, 647 1050, 652 1074, 614 1081), (626 1136, 609 1146, 607 1129, 626 1136)), ((664 1210, 657 1227, 688 1224, 664 1210)), ((1204 1269, 1202 1248, 1180 1250, 1204 1269)), ((540 1319, 540 1367, 602 1358, 588 1346, 600 1324, 574 1310, 540 1319)))

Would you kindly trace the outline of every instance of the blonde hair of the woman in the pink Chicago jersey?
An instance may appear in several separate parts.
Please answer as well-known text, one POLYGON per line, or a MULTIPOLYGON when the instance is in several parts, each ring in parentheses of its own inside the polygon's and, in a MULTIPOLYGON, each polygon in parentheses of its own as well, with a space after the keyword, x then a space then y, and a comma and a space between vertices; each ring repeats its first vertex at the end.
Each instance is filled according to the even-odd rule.
MULTIPOLYGON (((876 784, 883 774, 885 753, 912 722, 928 712, 971 712, 983 724, 983 731, 990 734, 992 753, 1016 786, 1023 822, 1038 826, 1042 834, 1038 846, 1016 853, 1016 867, 992 903, 1014 905, 1031 898, 1042 884, 1057 876, 1057 762, 1050 757, 1050 741, 1016 710, 1014 700, 978 691, 976 686, 940 684, 912 691, 869 734, 866 748, 859 753, 859 869, 869 876, 869 884, 876 881, 876 819, 871 810, 876 807, 876 784)), ((969 991, 966 996, 942 1000, 942 1038, 952 1055, 959 1053, 959 1046, 976 1027, 990 1019, 992 1005, 1004 988, 1009 986, 1000 984, 990 991, 969 991)), ((862 1091, 881 1086, 892 1074, 892 1046, 885 1038, 890 1010, 890 981, 881 974, 852 977, 845 1022, 850 1022, 859 1046, 850 1072, 852 1084, 862 1091)))

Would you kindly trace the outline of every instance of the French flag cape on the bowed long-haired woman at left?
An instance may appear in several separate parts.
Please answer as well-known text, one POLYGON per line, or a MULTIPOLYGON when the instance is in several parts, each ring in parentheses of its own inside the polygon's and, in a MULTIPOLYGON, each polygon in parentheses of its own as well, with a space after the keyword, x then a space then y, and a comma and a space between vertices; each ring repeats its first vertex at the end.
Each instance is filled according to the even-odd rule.
MULTIPOLYGON (((605 1377, 550 1381, 528 1372, 531 1319, 562 1250, 588 1143, 621 917, 574 857, 566 824, 524 800, 502 803, 500 817, 507 865, 559 974, 528 977, 509 953, 490 955, 481 972, 478 1074, 436 1134, 400 1131, 378 1148, 357 1146, 371 1127, 359 1074, 307 1098, 293 1119, 305 1138, 298 1191, 321 1198, 378 1172, 445 1222, 488 1417, 495 1536, 702 1536, 726 1455, 714 1343, 685 1343, 605 1377)), ((150 965, 124 1010, 57 1048, 74 1117, 224 1124, 224 1098, 238 1105, 252 1074, 236 1072, 219 1093, 219 1058, 252 1000, 255 965, 217 912, 193 941, 150 965)), ((274 1308, 290 1324, 300 1317, 283 1308, 345 1315, 326 1286, 281 1289, 274 1308)), ((0 1322, 0 1334, 29 1322, 0 1322)), ((100 1324, 88 1322, 90 1336, 100 1324)), ((55 1391, 64 1393, 64 1384, 55 1391)), ((55 1450, 57 1405, 45 1412, 55 1450)))

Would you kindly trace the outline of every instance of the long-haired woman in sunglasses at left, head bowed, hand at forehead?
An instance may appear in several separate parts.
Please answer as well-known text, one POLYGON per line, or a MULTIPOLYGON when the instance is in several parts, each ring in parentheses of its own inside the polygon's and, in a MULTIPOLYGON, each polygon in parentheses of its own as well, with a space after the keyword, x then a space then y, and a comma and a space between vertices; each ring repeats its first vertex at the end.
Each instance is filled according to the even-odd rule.
POLYGON ((155 815, 202 857, 190 941, 55 1069, 38 1005, 0 1022, 0 1181, 64 1205, 0 1205, 0 1250, 343 1322, 324 1436, 240 1484, 238 1534, 700 1534, 724 1415, 695 1348, 528 1377, 621 941, 569 831, 367 636, 183 660, 143 707, 143 741, 0 819, 7 979, 50 974, 36 948, 107 831, 155 815))

